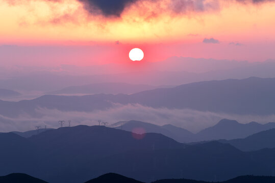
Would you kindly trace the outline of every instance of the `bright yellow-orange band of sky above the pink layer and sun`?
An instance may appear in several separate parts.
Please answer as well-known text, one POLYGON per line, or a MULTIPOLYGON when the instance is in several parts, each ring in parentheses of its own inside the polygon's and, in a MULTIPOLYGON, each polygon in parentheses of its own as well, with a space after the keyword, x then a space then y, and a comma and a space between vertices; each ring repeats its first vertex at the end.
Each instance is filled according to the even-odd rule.
MULTIPOLYGON (((120 18, 88 13, 76 0, 44 0, 8 4, 0 0, 1 43, 48 44, 72 42, 197 42, 204 37, 221 41, 275 40, 275 3, 261 5, 220 1, 204 12, 174 13, 171 0, 141 1, 120 18), (166 10, 166 11, 164 11, 166 10), (198 35, 198 36, 190 36, 198 35)), ((83 43, 82 43, 83 44, 83 43)))

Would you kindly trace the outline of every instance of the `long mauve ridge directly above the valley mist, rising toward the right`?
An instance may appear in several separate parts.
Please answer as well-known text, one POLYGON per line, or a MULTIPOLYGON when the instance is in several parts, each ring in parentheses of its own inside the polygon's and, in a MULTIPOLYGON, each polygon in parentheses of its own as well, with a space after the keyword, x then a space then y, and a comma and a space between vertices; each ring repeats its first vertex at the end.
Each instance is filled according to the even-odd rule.
MULTIPOLYGON (((228 79, 147 90, 132 95, 46 95, 19 102, 0 101, 0 114, 15 117, 39 116, 38 107, 61 111, 105 110, 119 104, 141 104, 154 108, 194 109, 231 114, 274 114, 275 78, 228 79)), ((40 114, 41 116, 41 114, 40 114)))

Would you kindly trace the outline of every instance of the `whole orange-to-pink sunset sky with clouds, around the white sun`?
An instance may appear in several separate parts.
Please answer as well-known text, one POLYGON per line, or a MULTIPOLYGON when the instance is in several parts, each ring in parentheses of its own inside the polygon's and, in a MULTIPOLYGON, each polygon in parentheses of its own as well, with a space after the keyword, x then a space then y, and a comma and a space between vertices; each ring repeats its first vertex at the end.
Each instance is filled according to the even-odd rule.
POLYGON ((275 59, 273 0, 0 0, 1 67, 275 59))

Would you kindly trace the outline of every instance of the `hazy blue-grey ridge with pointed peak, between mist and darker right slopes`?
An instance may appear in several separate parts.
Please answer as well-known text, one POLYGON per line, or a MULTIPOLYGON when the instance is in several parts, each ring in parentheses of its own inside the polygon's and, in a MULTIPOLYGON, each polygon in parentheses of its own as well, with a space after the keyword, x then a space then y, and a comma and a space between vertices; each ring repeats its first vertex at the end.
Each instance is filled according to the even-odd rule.
MULTIPOLYGON (((178 142, 198 142, 219 139, 237 139, 245 138, 249 135, 275 128, 275 123, 258 124, 251 122, 248 124, 240 124, 236 120, 222 119, 213 127, 209 127, 197 134, 193 134, 183 128, 175 127, 173 125, 158 126, 142 121, 119 121, 116 124, 116 129, 126 130, 132 132, 134 129, 141 132, 151 132, 163 134, 178 142)), ((275 147, 275 146, 274 146, 275 147)))

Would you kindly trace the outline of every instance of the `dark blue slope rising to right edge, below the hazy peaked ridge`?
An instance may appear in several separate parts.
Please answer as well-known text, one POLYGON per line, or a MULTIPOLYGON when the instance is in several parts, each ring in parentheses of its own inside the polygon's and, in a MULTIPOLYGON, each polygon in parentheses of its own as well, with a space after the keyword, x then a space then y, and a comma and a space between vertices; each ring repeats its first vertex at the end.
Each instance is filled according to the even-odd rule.
POLYGON ((259 150, 262 148, 275 148, 275 129, 259 132, 244 139, 220 140, 243 151, 259 150))

